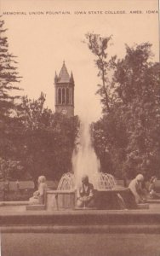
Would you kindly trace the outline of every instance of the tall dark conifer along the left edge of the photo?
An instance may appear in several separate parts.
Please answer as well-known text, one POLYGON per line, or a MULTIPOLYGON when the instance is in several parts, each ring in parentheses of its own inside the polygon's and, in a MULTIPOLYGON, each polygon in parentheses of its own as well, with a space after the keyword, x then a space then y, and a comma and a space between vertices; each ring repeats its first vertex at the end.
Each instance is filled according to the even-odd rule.
POLYGON ((20 76, 16 57, 9 53, 8 38, 3 26, 4 21, 0 20, 0 156, 9 160, 14 159, 14 131, 19 126, 15 110, 19 106, 17 100, 20 96, 17 93, 20 90, 20 76))

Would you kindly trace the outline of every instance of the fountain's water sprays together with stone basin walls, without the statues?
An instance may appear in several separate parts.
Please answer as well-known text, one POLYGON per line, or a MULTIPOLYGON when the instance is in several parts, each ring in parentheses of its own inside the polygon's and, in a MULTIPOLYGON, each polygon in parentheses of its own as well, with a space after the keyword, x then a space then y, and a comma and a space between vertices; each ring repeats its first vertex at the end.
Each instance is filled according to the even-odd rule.
POLYGON ((122 200, 121 195, 116 194, 119 190, 116 189, 115 178, 111 174, 100 172, 100 160, 94 152, 90 125, 86 120, 81 122, 76 145, 72 154, 72 172, 67 172, 61 177, 57 190, 48 191, 47 209, 74 209, 77 201, 76 190, 83 175, 88 175, 89 182, 94 185, 96 197, 99 198, 99 208, 103 208, 104 204, 111 207, 113 201, 117 203, 118 196, 122 200))

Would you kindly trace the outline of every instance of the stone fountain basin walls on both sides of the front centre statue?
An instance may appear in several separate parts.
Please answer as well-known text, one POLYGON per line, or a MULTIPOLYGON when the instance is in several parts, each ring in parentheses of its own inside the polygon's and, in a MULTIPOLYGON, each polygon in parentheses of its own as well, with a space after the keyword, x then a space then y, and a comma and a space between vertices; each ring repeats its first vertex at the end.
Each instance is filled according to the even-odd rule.
MULTIPOLYGON (((94 189, 94 197, 95 209, 137 208, 129 189, 94 189), (122 201, 121 198, 123 199, 122 201)), ((46 198, 47 211, 74 210, 77 207, 76 190, 48 190, 46 198)))

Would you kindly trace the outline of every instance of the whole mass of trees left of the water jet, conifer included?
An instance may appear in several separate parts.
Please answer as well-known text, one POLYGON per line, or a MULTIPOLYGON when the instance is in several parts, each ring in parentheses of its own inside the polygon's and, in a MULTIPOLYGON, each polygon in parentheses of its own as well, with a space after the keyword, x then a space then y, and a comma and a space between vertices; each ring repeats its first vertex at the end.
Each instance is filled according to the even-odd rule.
POLYGON ((60 179, 71 171, 79 120, 45 108, 43 93, 37 100, 20 98, 17 62, 9 53, 3 24, 0 21, 0 176, 31 177, 35 182, 40 175, 60 179))

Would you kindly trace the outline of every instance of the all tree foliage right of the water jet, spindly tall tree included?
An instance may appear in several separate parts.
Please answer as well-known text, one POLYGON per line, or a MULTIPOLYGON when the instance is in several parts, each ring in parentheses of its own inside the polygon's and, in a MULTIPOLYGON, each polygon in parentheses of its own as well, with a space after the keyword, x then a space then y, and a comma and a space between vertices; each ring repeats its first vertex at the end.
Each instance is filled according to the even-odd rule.
MULTIPOLYGON (((89 34, 88 40, 93 53, 95 46, 98 48, 99 59, 108 38, 89 34), (91 44, 90 38, 95 42, 91 44)), ((138 172, 146 177, 160 176, 160 63, 151 62, 151 57, 151 44, 143 43, 126 45, 123 59, 113 57, 104 66, 95 61, 100 73, 105 74, 105 78, 100 76, 102 84, 109 81, 105 85, 109 108, 105 95, 98 90, 103 116, 93 125, 94 148, 102 171, 117 177, 130 178, 138 172)))

